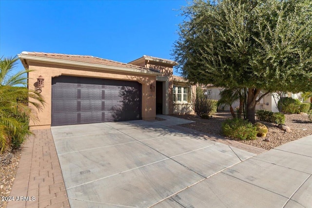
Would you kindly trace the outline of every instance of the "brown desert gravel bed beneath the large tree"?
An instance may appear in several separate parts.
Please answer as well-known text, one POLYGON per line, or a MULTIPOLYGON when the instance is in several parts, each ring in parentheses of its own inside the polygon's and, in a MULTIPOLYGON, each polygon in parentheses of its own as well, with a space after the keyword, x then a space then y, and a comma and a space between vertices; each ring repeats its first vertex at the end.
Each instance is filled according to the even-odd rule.
MULTIPOLYGON (((219 136, 223 136, 221 130, 222 122, 227 118, 232 118, 232 115, 229 112, 215 113, 211 119, 202 119, 197 115, 174 115, 174 116, 196 122, 191 124, 182 124, 179 126, 219 136)), ((308 115, 306 113, 285 114, 285 124, 291 128, 292 132, 290 133, 285 133, 284 131, 278 129, 275 124, 262 121, 257 122, 263 123, 268 127, 269 131, 266 137, 263 138, 257 137, 257 139, 255 140, 237 140, 237 141, 255 147, 270 150, 287 142, 300 139, 302 137, 312 134, 312 123, 309 122, 308 115), (270 141, 269 142, 264 141, 266 138, 269 139, 270 141)))

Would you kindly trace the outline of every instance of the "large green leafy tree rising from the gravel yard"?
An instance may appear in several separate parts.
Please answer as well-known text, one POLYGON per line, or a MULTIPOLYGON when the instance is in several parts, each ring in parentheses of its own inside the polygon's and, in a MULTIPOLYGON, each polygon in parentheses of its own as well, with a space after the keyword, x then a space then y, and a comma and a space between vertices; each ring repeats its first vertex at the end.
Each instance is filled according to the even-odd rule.
POLYGON ((268 93, 311 91, 311 0, 195 0, 182 15, 173 50, 182 75, 247 88, 251 122, 268 93))

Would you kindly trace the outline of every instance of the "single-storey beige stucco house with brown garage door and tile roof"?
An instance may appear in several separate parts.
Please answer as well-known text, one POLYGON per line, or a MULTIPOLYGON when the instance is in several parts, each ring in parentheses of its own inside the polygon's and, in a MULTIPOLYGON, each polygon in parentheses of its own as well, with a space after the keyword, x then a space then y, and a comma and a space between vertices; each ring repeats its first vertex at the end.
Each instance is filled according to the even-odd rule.
POLYGON ((22 52, 28 88, 46 101, 33 129, 189 113, 189 85, 175 61, 143 56, 129 63, 92 56, 22 52), (40 86, 43 80, 44 86, 40 86), (175 87, 174 87, 175 86, 175 87), (175 99, 175 101, 174 101, 175 99), (178 107, 177 107, 178 106, 178 107))

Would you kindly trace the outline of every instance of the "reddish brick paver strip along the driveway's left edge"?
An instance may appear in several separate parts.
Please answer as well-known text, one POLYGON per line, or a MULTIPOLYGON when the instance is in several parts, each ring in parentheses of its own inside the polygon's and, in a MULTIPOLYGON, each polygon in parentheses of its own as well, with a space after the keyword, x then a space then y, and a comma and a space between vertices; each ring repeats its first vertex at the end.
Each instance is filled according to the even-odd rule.
POLYGON ((69 208, 51 130, 33 132, 23 147, 10 194, 14 201, 7 208, 69 208))

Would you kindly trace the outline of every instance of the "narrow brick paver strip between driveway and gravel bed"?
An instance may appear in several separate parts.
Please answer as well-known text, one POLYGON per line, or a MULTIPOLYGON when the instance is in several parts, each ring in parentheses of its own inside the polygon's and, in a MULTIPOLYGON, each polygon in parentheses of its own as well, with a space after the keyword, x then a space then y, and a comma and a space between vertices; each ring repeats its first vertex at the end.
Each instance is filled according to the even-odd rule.
POLYGON ((235 148, 238 148, 238 149, 241 149, 241 150, 252 152, 254 154, 260 154, 262 152, 267 151, 265 149, 254 147, 254 146, 251 146, 251 145, 248 145, 248 144, 244 144, 244 143, 241 143, 241 142, 238 142, 238 141, 235 141, 235 140, 225 139, 225 138, 214 136, 214 135, 211 135, 211 134, 205 133, 205 132, 198 132, 196 130, 185 128, 185 127, 182 127, 182 126, 170 126, 170 128, 176 129, 176 130, 181 131, 181 132, 198 135, 198 136, 204 137, 204 138, 209 139, 209 140, 213 140, 213 141, 220 142, 220 143, 223 143, 223 144, 226 144, 226 145, 230 145, 232 147, 235 147, 235 148))

